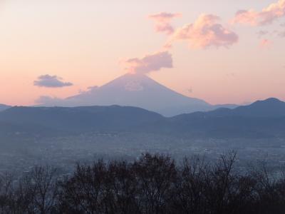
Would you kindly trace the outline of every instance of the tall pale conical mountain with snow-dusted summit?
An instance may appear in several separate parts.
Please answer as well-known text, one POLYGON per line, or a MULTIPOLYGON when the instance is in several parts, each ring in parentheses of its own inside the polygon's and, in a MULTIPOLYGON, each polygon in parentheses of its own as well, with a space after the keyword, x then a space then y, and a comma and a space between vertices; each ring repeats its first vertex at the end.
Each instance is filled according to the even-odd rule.
POLYGON ((41 106, 135 106, 155 111, 163 116, 180 113, 210 111, 220 107, 235 108, 236 105, 212 106, 198 98, 190 98, 162 86, 142 74, 127 73, 109 83, 90 88, 66 99, 47 98, 41 106))

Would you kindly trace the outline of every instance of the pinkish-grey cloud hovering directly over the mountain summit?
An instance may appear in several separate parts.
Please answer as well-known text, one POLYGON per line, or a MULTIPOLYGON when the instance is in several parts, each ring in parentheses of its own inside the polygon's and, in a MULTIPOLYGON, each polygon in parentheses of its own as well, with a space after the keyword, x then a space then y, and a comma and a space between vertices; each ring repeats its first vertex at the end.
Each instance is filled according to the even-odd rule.
POLYGON ((130 73, 150 73, 161 68, 172 68, 172 55, 167 51, 149 54, 143 58, 130 58, 123 61, 125 69, 130 73))

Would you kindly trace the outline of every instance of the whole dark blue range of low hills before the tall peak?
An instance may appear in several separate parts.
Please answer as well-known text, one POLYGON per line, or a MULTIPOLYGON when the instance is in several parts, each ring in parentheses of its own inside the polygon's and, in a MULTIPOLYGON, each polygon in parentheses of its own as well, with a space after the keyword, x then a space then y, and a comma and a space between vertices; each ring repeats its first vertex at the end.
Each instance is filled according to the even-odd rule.
POLYGON ((9 130, 15 133, 33 132, 35 127, 35 133, 46 128, 57 134, 128 131, 199 138, 279 138, 285 136, 285 103, 269 98, 249 106, 171 118, 122 106, 12 107, 0 112, 0 127, 1 124, 9 124, 9 130))

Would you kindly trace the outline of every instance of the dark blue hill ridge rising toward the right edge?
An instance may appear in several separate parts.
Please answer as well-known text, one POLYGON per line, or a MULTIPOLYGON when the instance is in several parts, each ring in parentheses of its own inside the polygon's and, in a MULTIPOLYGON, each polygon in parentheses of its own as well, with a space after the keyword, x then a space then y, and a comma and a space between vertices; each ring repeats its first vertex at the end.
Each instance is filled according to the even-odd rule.
MULTIPOLYGON (((158 126, 157 124, 155 126, 158 126)), ((208 137, 264 138, 285 136, 284 102, 276 98, 249 106, 219 108, 175 116, 160 124, 165 132, 208 137)))

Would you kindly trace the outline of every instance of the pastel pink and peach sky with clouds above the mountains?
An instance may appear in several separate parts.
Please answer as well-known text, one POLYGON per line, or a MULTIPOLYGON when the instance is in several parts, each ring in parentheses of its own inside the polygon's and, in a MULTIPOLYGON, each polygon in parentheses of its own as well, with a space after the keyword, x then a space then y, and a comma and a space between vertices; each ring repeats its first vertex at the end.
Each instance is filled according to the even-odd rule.
POLYGON ((0 103, 127 71, 212 104, 285 100, 285 0, 0 0, 0 103))

